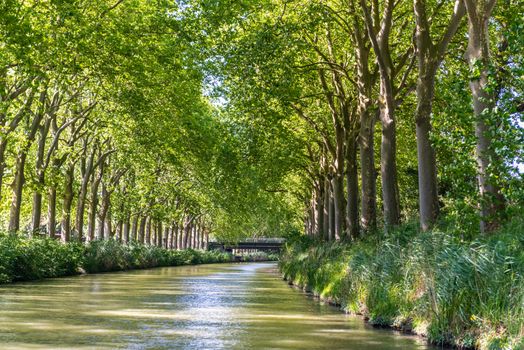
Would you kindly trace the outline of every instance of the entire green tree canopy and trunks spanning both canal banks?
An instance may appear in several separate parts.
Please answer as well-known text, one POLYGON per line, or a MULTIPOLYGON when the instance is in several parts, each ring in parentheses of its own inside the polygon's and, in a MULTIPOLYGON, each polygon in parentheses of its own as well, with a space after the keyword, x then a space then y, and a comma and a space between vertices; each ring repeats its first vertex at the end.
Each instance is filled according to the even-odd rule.
POLYGON ((172 248, 491 232, 523 198, 517 5, 4 1, 2 224, 172 248))

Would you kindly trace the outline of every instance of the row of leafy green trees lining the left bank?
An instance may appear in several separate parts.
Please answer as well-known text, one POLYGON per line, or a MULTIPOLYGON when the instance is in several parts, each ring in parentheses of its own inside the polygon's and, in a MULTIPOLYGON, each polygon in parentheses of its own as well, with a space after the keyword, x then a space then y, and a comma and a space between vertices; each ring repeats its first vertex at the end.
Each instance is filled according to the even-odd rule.
POLYGON ((206 167, 227 130, 174 4, 0 6, 3 228, 203 248, 206 167))

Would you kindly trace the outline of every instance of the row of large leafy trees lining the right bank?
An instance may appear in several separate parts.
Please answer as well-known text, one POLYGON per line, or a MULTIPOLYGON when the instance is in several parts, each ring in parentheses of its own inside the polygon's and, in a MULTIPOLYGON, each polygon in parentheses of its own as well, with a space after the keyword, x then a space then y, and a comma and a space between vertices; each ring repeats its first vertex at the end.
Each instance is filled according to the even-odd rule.
POLYGON ((193 6, 229 115, 259 151, 296 147, 284 182, 306 233, 355 239, 413 217, 489 233, 522 204, 517 2, 193 6))

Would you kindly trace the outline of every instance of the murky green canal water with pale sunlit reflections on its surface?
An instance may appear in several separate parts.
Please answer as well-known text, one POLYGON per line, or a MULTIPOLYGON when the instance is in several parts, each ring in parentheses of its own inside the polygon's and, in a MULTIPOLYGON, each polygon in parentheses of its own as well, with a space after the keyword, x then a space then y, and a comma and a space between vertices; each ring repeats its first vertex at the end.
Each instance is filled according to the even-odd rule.
POLYGON ((0 287, 2 349, 427 349, 305 297, 273 263, 0 287))

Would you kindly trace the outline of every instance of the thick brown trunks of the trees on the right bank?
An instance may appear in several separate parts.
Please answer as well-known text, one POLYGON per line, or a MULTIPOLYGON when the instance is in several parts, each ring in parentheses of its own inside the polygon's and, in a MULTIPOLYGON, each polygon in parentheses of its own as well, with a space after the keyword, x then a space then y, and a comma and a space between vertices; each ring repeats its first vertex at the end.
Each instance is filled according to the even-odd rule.
MULTIPOLYGON (((476 116, 481 231, 493 231, 499 225, 497 213, 504 208, 504 197, 496 176, 488 174, 495 171, 491 164, 496 157, 492 148, 493 130, 489 130, 488 126, 496 99, 489 92, 488 85, 488 23, 495 0, 456 0, 445 30, 439 37, 431 33, 426 2, 413 0, 415 50, 408 49, 397 59, 392 59, 394 45, 390 37, 397 2, 385 0, 379 6, 378 2, 369 4, 359 0, 349 1, 348 4, 352 13, 362 13, 362 17, 353 16, 351 24, 347 23, 351 28, 348 35, 352 38, 356 60, 356 81, 349 84, 356 86, 356 107, 352 108, 352 94, 347 91, 348 83, 344 81, 347 72, 341 72, 341 66, 349 64, 340 64, 329 26, 323 46, 318 37, 312 39, 310 45, 321 61, 318 64, 319 85, 331 112, 332 129, 322 128, 321 123, 309 116, 302 106, 293 105, 298 115, 318 132, 322 140, 320 155, 310 150, 311 161, 318 168, 310 171, 313 191, 306 205, 306 233, 325 239, 354 239, 361 231, 376 228, 378 174, 374 159, 374 129, 377 122, 382 130, 380 179, 383 222, 386 230, 400 223, 395 110, 412 90, 408 80, 415 69, 414 63, 418 63, 414 90, 417 97, 415 122, 420 226, 422 230, 428 230, 435 224, 439 215, 437 165, 430 141, 435 77, 447 47, 466 15, 469 23, 466 56, 472 68, 475 65, 481 68, 479 78, 470 82, 476 116), (371 58, 372 53, 374 59, 371 58), (378 84, 377 97, 373 92, 375 84, 378 84), (357 152, 360 152, 360 164, 357 152)), ((402 17, 397 21, 402 22, 402 17)))

